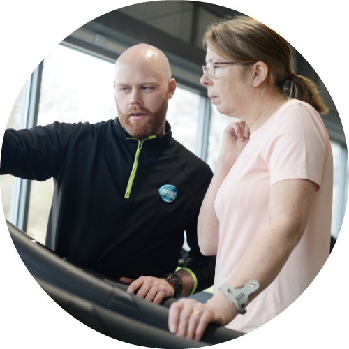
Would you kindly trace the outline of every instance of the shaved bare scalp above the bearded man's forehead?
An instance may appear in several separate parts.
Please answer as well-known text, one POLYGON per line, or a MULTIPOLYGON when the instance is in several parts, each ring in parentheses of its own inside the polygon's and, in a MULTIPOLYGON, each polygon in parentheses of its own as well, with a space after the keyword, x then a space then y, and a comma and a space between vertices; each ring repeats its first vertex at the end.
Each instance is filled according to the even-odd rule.
POLYGON ((155 46, 138 44, 128 48, 117 59, 114 66, 114 77, 117 81, 119 71, 124 65, 134 66, 138 69, 150 70, 158 82, 170 83, 171 69, 168 57, 155 46))

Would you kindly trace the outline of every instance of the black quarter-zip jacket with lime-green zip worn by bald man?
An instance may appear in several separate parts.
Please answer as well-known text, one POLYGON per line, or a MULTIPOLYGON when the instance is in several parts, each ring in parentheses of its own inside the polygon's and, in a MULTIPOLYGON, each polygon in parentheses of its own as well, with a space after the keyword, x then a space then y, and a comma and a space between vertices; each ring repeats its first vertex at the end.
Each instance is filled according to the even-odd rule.
POLYGON ((198 280, 195 292, 204 290, 213 284, 216 258, 200 253, 197 221, 211 169, 172 138, 166 122, 165 135, 142 142, 130 181, 139 142, 128 138, 117 118, 9 129, 0 174, 53 177, 45 245, 114 279, 174 272, 186 230, 191 251, 185 267, 198 280), (159 194, 166 184, 177 188, 170 203, 159 194))

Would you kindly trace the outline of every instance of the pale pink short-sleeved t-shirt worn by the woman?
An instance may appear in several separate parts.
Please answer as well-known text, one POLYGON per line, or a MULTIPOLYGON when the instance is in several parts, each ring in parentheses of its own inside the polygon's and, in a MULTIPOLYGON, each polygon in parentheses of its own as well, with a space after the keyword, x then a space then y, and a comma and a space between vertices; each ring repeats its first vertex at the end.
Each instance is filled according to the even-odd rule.
POLYGON ((271 186, 287 179, 309 179, 318 184, 306 230, 276 279, 228 328, 248 333, 265 325, 302 295, 329 258, 331 144, 318 112, 296 99, 285 103, 251 134, 218 190, 214 202, 219 221, 214 294, 267 228, 271 186))

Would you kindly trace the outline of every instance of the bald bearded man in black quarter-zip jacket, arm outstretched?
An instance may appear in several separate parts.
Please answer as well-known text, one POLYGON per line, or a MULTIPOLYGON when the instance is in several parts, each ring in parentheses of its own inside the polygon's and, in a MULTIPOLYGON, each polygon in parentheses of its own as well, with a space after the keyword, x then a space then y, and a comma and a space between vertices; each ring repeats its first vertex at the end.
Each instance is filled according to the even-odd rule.
POLYGON ((69 261, 154 303, 204 290, 215 258, 200 253, 197 220, 212 172, 172 138, 168 59, 135 45, 117 59, 114 79, 116 119, 6 130, 0 174, 53 177, 45 245, 69 261), (174 273, 184 231, 189 262, 174 273))

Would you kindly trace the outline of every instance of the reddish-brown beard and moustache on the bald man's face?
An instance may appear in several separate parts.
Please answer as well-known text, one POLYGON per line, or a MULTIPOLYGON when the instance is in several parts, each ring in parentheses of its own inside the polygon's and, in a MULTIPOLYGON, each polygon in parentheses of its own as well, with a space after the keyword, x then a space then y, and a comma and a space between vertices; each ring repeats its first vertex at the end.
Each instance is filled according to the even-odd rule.
MULTIPOLYGON (((115 99, 117 105, 117 101, 115 99)), ((166 112, 168 111, 168 91, 163 98, 163 102, 160 107, 155 112, 151 112, 146 107, 129 107, 126 113, 122 113, 117 105, 117 114, 120 124, 124 130, 131 135, 132 138, 137 138, 138 140, 143 140, 149 135, 154 135, 156 131, 163 125, 166 119, 166 112), (133 112, 142 112, 147 114, 142 120, 131 121, 130 115, 133 112)))

